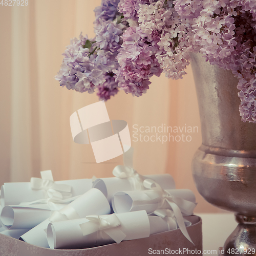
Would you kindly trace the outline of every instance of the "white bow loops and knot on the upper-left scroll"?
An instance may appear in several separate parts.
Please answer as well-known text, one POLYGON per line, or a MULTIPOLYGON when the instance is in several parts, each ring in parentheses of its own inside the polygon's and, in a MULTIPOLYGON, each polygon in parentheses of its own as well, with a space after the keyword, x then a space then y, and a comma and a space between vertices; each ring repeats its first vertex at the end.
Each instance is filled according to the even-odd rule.
MULTIPOLYGON (((65 200, 72 197, 72 194, 70 193, 72 186, 67 184, 56 184, 53 181, 51 170, 44 170, 40 173, 41 178, 30 179, 30 185, 32 189, 44 189, 47 193, 47 200, 51 202, 65 200)), ((42 201, 40 200, 40 202, 42 201)))

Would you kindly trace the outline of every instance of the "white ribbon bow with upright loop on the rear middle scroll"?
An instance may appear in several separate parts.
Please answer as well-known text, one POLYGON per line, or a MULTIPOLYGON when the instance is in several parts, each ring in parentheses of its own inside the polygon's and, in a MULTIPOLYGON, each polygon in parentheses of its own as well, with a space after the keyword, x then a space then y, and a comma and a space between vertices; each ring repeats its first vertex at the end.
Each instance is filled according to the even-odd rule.
POLYGON ((134 190, 142 190, 144 177, 133 168, 133 148, 123 154, 124 165, 117 165, 113 169, 113 175, 120 179, 128 179, 134 190))

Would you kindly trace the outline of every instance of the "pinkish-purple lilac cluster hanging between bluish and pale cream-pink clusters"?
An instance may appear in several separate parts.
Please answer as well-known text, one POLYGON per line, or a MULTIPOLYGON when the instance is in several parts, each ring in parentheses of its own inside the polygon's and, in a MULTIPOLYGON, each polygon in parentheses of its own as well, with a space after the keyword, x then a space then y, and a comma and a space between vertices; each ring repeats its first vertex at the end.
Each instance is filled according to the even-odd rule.
POLYGON ((123 33, 123 44, 117 55, 120 68, 115 70, 118 86, 126 93, 141 96, 149 88, 149 78, 162 73, 152 45, 140 27, 129 27, 123 33))

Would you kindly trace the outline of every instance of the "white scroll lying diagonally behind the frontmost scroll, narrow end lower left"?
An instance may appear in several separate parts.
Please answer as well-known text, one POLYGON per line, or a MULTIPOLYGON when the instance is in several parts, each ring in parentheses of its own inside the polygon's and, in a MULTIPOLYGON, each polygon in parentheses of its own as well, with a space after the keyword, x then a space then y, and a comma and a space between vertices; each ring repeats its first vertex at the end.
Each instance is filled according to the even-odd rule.
MULTIPOLYGON (((63 207, 61 210, 53 212, 50 220, 62 223, 62 220, 84 218, 87 215, 93 214, 110 214, 110 205, 108 200, 101 191, 96 188, 90 189, 87 193, 63 207)), ((23 236, 20 237, 20 240, 36 246, 49 248, 45 229, 47 229, 50 220, 47 219, 35 226, 27 233, 23 234, 23 236)))

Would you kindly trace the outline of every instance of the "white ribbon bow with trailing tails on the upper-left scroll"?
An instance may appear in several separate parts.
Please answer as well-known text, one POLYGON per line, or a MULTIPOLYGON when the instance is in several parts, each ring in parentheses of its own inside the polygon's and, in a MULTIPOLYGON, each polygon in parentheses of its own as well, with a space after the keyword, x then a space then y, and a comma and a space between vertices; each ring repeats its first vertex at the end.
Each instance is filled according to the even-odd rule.
POLYGON ((30 186, 32 189, 35 190, 45 190, 46 198, 35 200, 32 202, 23 202, 20 204, 48 204, 50 209, 56 210, 53 203, 68 203, 76 198, 71 198, 72 186, 68 184, 56 184, 53 181, 51 170, 44 170, 40 172, 40 174, 41 178, 30 179, 30 186))

